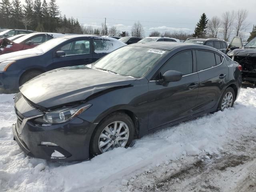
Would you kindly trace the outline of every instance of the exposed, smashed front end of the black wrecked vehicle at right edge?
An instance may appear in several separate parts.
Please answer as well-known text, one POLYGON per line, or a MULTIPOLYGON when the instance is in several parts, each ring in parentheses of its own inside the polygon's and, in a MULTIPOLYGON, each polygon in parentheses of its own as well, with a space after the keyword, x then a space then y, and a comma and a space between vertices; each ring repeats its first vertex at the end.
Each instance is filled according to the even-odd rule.
POLYGON ((242 65, 243 71, 256 73, 256 58, 255 57, 242 57, 234 56, 234 61, 242 65))

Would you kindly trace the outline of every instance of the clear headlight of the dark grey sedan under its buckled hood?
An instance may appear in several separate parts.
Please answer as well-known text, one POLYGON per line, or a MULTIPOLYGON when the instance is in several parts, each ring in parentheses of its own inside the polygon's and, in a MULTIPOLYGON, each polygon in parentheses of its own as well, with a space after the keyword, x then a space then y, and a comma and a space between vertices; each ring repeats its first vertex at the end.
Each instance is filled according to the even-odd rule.
POLYGON ((78 116, 92 104, 84 104, 76 107, 65 107, 54 111, 46 112, 43 116, 36 118, 34 122, 39 123, 41 126, 50 126, 52 124, 64 123, 78 116))

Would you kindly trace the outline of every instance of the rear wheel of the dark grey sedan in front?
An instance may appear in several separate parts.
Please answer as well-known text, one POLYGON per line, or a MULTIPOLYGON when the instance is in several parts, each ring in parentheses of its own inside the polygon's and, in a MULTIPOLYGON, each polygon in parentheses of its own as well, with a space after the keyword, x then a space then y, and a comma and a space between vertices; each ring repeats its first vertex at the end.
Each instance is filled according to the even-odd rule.
POLYGON ((235 102, 235 92, 234 89, 228 87, 220 98, 220 102, 218 104, 218 110, 224 110, 226 108, 230 108, 234 106, 235 102))

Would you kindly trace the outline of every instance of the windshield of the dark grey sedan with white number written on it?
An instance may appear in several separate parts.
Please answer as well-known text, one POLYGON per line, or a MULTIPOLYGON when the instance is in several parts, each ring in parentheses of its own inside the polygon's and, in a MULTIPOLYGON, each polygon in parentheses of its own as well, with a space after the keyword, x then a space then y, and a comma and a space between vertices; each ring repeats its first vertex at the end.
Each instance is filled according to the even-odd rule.
POLYGON ((95 62, 92 68, 140 78, 167 52, 148 47, 124 46, 95 62))

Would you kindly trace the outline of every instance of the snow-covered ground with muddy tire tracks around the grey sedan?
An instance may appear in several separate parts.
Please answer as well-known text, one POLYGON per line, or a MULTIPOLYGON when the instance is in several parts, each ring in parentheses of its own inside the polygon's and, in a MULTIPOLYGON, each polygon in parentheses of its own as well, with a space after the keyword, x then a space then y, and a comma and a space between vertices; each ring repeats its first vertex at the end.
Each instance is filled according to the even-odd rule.
POLYGON ((256 89, 243 88, 234 108, 76 164, 25 156, 12 97, 0 94, 1 192, 256 191, 256 89))

